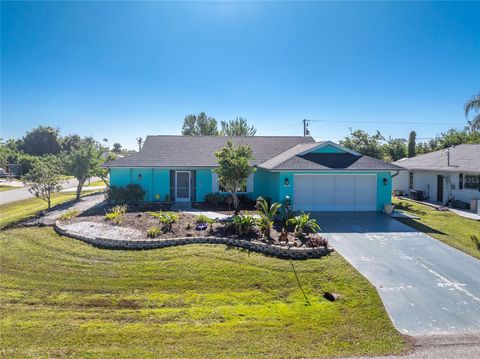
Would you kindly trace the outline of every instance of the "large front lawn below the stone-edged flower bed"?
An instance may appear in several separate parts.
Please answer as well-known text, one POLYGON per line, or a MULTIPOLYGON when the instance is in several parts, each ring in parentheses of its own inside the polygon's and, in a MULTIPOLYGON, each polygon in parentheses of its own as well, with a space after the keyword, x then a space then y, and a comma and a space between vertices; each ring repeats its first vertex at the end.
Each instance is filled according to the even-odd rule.
POLYGON ((224 246, 102 250, 0 231, 6 357, 326 357, 402 353, 374 288, 337 254, 290 262, 224 246), (328 302, 323 291, 342 299, 328 302))

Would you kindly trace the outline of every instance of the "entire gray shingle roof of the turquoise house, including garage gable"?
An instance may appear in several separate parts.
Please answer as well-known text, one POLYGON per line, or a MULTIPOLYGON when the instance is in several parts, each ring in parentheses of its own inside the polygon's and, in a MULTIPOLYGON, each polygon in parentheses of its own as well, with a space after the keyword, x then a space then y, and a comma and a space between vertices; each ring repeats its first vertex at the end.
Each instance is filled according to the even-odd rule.
MULTIPOLYGON (((228 140, 252 148, 251 164, 268 170, 384 170, 403 168, 354 151, 309 153, 330 141, 315 142, 299 136, 148 136, 142 150, 128 157, 106 163, 105 167, 216 167, 215 152, 228 140)), ((339 147, 339 146, 338 146, 339 147)), ((339 147, 342 149, 342 147, 339 147)))

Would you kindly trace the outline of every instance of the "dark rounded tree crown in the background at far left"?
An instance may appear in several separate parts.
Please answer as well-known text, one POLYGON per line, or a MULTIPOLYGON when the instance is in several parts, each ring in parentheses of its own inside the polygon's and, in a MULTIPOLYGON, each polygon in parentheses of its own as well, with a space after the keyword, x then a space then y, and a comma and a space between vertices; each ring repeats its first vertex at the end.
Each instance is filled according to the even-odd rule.
POLYGON ((58 154, 60 152, 60 137, 58 129, 49 126, 38 126, 26 133, 19 149, 34 156, 58 154))

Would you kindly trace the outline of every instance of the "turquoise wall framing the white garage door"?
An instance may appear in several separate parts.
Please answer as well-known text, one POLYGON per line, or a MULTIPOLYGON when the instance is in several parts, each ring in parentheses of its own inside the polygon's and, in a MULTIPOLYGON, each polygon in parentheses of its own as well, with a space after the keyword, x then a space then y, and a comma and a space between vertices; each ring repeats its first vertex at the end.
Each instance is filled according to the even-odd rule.
MULTIPOLYGON (((278 197, 276 201, 282 202, 286 196, 289 196, 292 202, 295 202, 294 198, 294 175, 296 173, 302 174, 368 174, 372 172, 347 172, 347 171, 329 171, 329 172, 280 172, 278 183, 278 197), (288 178, 288 185, 285 185, 285 179, 288 178)), ((392 203, 392 176, 390 172, 378 172, 377 175, 377 211, 383 210, 384 204, 392 203), (387 185, 383 184, 383 179, 387 179, 387 185)))

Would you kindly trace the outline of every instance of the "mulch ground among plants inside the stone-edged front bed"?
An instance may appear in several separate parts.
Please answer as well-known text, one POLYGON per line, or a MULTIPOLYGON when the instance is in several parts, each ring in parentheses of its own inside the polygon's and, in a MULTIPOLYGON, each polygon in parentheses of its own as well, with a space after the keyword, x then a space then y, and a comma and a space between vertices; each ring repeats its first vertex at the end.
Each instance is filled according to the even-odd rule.
MULTIPOLYGON (((151 227, 162 228, 162 224, 153 216, 146 212, 142 211, 131 211, 126 213, 122 221, 118 224, 113 223, 112 221, 105 220, 104 217, 105 210, 97 210, 95 212, 87 211, 81 214, 78 217, 70 219, 69 223, 78 223, 78 222, 96 222, 102 224, 108 224, 111 226, 119 226, 125 228, 132 228, 144 233, 145 238, 147 237, 147 230, 151 227)), ((217 237, 228 237, 228 238, 237 238, 237 239, 246 239, 246 240, 258 240, 264 243, 269 244, 279 244, 278 238, 282 231, 282 223, 275 223, 271 230, 271 238, 266 238, 262 233, 255 227, 249 234, 244 236, 238 236, 234 232, 233 226, 230 223, 214 223, 213 229, 211 230, 208 226, 205 230, 196 230, 196 220, 197 216, 178 212, 180 218, 173 224, 171 232, 163 232, 158 239, 161 238, 178 238, 178 237, 206 237, 206 236, 217 236, 217 237)), ((251 213, 251 212, 249 212, 251 213)), ((320 237, 318 234, 313 233, 309 235, 309 238, 320 237)), ((288 233, 288 243, 297 247, 306 246, 307 239, 300 240, 296 238, 290 231, 288 233)), ((282 242, 285 243, 285 242, 282 242)))

